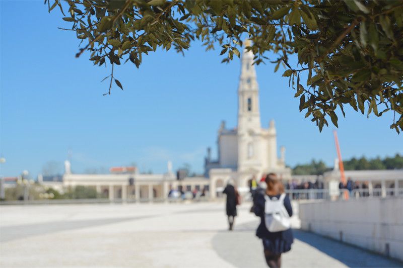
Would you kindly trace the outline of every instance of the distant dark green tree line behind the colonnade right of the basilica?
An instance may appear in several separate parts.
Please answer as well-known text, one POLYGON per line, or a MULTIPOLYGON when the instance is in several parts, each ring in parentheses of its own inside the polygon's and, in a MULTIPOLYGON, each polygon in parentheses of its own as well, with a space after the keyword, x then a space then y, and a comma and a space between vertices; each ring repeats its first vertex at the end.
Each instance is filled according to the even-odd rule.
MULTIPOLYGON (((402 169, 403 156, 396 153, 393 157, 380 157, 367 159, 365 156, 361 158, 351 158, 343 161, 345 170, 364 170, 364 169, 402 169)), ((326 166, 322 161, 312 161, 308 164, 299 164, 292 168, 293 175, 320 175, 323 172, 331 170, 332 167, 326 166)))

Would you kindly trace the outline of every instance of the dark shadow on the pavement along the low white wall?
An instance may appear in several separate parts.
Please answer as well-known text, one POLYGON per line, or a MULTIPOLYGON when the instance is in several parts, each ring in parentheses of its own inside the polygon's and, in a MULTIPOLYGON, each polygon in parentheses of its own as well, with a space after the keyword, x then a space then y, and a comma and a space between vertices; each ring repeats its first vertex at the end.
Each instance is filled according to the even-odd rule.
POLYGON ((403 263, 321 235, 293 230, 294 237, 350 267, 402 267, 403 263))

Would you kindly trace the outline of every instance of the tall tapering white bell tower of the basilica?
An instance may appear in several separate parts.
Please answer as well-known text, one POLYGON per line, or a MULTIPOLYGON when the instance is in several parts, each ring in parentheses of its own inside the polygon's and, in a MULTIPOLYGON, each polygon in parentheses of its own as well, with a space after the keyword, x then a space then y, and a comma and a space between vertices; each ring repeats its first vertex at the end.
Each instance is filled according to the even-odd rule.
MULTIPOLYGON (((250 40, 244 42, 250 46, 250 40)), ((259 86, 252 51, 243 49, 238 86, 238 170, 261 167, 259 86)))

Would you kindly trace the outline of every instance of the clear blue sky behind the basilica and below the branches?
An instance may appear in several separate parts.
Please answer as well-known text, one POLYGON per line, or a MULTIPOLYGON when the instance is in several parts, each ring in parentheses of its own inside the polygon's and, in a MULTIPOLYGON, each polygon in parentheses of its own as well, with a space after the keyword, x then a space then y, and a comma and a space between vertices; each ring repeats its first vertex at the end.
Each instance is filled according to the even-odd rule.
MULTIPOLYGON (((137 69, 115 68, 111 96, 102 96, 109 69, 95 67, 88 53, 79 59, 79 41, 43 1, 0 1, 0 153, 7 162, 1 174, 29 170, 33 177, 49 162, 59 163, 71 151, 72 169, 107 169, 137 163, 141 171, 163 172, 189 163, 202 172, 206 148, 217 153, 221 120, 237 123, 240 60, 221 64, 220 50, 205 52, 193 43, 185 56, 174 51, 151 53, 137 69)), ((276 121, 278 145, 287 148, 294 166, 312 158, 328 165, 336 157, 332 130, 317 127, 288 87, 288 78, 274 65, 257 66, 262 126, 276 121)), ((403 153, 402 135, 389 129, 393 114, 381 118, 346 107, 339 119, 339 140, 345 159, 403 153)), ((330 121, 330 120, 329 120, 330 121)))

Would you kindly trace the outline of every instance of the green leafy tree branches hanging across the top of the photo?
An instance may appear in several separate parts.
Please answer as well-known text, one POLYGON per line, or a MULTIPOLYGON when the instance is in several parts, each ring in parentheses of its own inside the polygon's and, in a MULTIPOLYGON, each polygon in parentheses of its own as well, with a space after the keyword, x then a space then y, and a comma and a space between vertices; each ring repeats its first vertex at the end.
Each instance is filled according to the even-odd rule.
MULTIPOLYGON (((393 128, 403 130, 403 2, 401 1, 182 1, 182 0, 45 0, 49 12, 59 7, 94 65, 130 61, 139 67, 144 54, 157 48, 183 53, 190 42, 206 49, 221 46, 229 62, 240 56, 242 37, 254 63, 272 62, 288 69, 289 85, 299 109, 321 131, 328 119, 338 126, 336 109, 369 116, 393 113, 393 128), (50 3, 52 1, 52 3, 50 3), (64 11, 63 11, 64 7, 64 11), (269 58, 267 52, 275 55, 269 58), (289 56, 298 63, 291 66, 289 56), (307 81, 301 81, 307 72, 307 81)), ((105 95, 106 95, 105 94, 105 95)))

